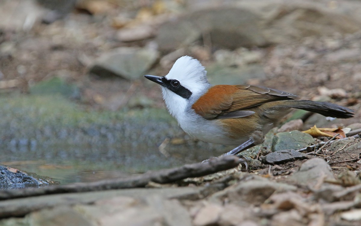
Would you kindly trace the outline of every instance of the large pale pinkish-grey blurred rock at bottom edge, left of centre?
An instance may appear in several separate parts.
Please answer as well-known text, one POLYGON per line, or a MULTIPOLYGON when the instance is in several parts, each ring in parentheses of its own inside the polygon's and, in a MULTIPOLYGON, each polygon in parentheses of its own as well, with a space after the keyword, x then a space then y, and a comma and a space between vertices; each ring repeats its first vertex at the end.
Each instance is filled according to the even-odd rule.
POLYGON ((169 225, 191 226, 188 211, 178 200, 163 196, 116 196, 98 200, 93 205, 78 205, 75 209, 100 225, 169 225))

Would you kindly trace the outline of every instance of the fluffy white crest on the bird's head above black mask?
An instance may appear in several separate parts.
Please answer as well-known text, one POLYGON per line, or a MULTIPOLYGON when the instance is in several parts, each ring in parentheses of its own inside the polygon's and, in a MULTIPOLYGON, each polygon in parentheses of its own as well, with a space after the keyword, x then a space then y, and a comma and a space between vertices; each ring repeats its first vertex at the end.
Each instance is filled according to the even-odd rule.
POLYGON ((193 94, 202 92, 209 87, 207 71, 199 60, 190 56, 182 56, 175 61, 166 79, 176 79, 193 94))

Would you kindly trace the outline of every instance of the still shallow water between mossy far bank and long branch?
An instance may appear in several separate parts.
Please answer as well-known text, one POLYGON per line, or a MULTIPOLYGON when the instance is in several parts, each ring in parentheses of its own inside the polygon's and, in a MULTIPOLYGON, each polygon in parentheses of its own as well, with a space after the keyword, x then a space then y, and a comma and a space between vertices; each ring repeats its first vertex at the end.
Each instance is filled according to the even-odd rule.
MULTIPOLYGON (((48 149, 22 148, 16 151, 3 149, 0 164, 49 177, 60 184, 69 184, 127 177, 130 174, 144 173, 148 170, 199 162, 218 156, 223 149, 227 150, 224 146, 215 147, 206 143, 170 145, 166 148, 167 157, 160 153, 157 147, 139 147, 137 151, 115 145, 113 148, 67 146, 48 149)), ((26 185, 26 187, 33 186, 26 185)))

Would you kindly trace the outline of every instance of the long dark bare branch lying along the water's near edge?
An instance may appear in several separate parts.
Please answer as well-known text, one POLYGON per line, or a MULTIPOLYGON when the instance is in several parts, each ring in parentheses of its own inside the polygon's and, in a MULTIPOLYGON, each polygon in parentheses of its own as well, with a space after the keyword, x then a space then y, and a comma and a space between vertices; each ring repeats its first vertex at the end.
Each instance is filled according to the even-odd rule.
POLYGON ((19 190, 0 191, 0 200, 21 197, 61 194, 70 192, 104 191, 110 189, 145 187, 149 182, 160 184, 176 182, 188 177, 201 177, 218 171, 227 170, 243 162, 236 156, 212 158, 205 163, 187 164, 173 169, 149 171, 147 173, 128 178, 103 180, 91 183, 79 183, 49 186, 42 188, 26 188, 19 190))

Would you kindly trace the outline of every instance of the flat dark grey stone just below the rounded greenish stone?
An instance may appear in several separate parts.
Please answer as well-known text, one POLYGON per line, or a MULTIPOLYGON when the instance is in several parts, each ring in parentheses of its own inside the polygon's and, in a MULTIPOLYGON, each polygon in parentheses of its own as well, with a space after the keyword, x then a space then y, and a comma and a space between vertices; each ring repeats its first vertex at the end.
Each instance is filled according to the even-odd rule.
POLYGON ((267 154, 263 159, 264 164, 283 164, 296 160, 309 159, 310 156, 295 150, 275 151, 267 154))

